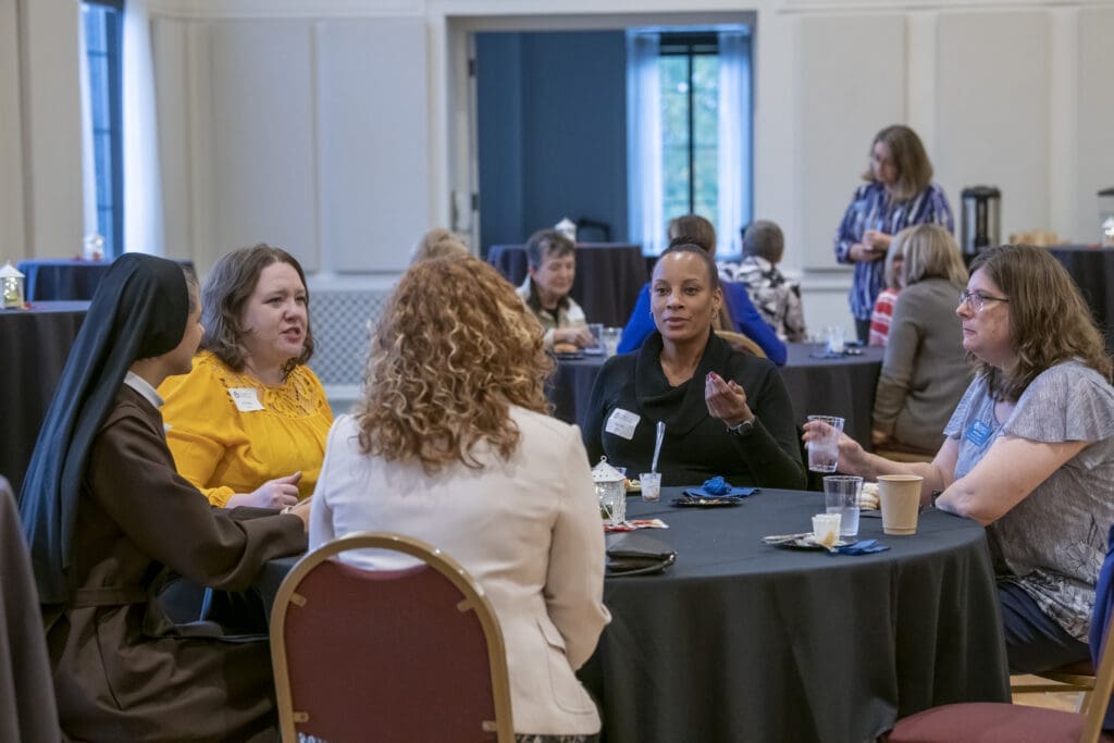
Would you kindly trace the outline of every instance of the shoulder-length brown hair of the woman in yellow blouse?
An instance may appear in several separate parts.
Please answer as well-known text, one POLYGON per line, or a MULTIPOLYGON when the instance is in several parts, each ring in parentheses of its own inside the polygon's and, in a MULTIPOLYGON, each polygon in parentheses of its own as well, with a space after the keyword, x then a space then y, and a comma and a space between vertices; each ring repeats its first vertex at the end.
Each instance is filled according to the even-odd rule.
POLYGON ((252 296, 255 285, 260 283, 263 270, 275 263, 286 263, 294 267, 297 277, 305 289, 305 343, 302 354, 291 359, 283 368, 283 375, 289 375, 299 364, 304 364, 313 356, 313 331, 310 326, 310 289, 305 285, 305 273, 297 260, 282 250, 265 243, 252 247, 241 247, 225 253, 213 264, 213 270, 202 289, 202 325, 205 334, 202 336, 202 348, 212 351, 233 371, 244 370, 244 348, 241 339, 244 329, 240 324, 244 312, 244 303, 252 296))

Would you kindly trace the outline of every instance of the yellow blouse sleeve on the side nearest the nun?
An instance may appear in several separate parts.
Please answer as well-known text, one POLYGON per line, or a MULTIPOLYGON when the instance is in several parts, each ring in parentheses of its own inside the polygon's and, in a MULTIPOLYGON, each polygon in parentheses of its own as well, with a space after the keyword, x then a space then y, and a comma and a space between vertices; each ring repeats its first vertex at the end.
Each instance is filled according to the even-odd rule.
POLYGON ((225 506, 235 491, 223 485, 207 487, 233 440, 242 438, 229 414, 224 383, 204 356, 195 356, 193 371, 167 378, 158 393, 165 400, 166 441, 178 473, 205 493, 211 504, 225 506))

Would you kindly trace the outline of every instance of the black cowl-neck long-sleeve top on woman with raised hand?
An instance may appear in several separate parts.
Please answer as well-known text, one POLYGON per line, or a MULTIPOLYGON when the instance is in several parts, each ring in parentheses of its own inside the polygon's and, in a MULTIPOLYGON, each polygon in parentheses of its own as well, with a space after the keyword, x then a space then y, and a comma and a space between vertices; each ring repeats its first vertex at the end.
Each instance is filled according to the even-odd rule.
MULTIPOLYGON (((637 478, 649 471, 657 421, 665 422, 665 440, 657 470, 663 485, 700 485, 722 475, 734 486, 803 489, 804 465, 793 421, 789 393, 776 368, 732 350, 710 333, 704 355, 692 379, 671 387, 662 371, 662 336, 654 333, 642 349, 614 356, 604 364, 592 390, 584 446, 593 465, 602 454, 627 468, 637 478), (716 372, 746 392, 756 420, 740 436, 712 418, 704 401, 704 379, 716 372), (638 416, 633 436, 608 432, 608 420, 617 410, 638 416)), ((613 426, 616 431, 622 427, 613 426)))

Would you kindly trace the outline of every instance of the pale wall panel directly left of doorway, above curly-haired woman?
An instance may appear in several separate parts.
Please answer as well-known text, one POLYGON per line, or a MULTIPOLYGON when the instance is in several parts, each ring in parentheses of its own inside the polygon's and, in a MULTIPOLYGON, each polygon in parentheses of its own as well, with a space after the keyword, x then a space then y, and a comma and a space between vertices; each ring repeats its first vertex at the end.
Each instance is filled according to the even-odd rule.
POLYGON ((424 22, 319 28, 323 267, 401 271, 430 227, 424 22))

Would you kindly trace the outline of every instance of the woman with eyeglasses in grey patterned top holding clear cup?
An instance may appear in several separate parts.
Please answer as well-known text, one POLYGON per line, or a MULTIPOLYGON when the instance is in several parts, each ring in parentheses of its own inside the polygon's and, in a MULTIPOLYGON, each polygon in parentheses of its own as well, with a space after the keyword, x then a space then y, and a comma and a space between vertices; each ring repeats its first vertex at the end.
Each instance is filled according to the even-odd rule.
MULTIPOLYGON (((1037 247, 980 253, 956 314, 976 377, 936 459, 892 462, 843 436, 840 470, 920 475, 922 504, 987 527, 1012 672, 1084 661, 1114 522, 1111 358, 1074 282, 1037 247)), ((808 441, 819 426, 804 428, 808 441)))

